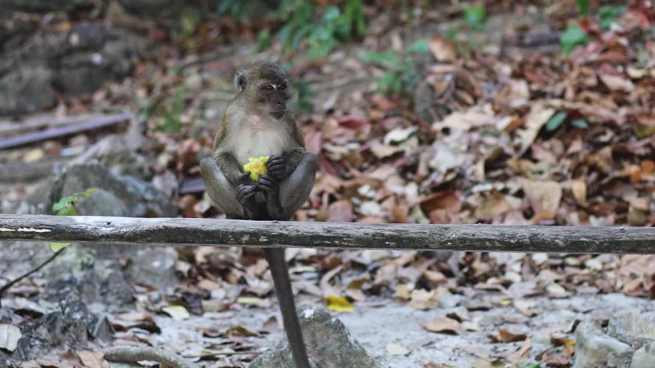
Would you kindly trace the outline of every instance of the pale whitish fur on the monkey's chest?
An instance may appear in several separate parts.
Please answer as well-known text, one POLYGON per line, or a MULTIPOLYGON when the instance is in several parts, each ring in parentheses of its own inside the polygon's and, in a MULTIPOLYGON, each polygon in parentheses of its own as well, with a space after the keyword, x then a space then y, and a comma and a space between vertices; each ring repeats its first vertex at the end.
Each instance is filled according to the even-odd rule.
POLYGON ((248 163, 250 157, 282 155, 284 148, 289 147, 289 134, 279 126, 280 121, 259 115, 249 115, 241 121, 242 128, 230 142, 239 164, 248 163))

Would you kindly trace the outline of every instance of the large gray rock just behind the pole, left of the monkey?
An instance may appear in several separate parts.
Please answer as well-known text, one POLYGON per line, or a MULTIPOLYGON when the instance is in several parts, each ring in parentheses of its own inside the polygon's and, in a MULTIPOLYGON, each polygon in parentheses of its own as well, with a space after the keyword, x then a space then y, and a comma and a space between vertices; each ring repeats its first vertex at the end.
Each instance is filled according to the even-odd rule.
POLYGON ((92 193, 75 202, 78 215, 175 217, 178 214, 170 197, 151 183, 115 175, 97 162, 72 165, 62 174, 43 181, 20 204, 17 212, 52 214, 52 204, 60 198, 92 188, 98 189, 100 194, 92 193))

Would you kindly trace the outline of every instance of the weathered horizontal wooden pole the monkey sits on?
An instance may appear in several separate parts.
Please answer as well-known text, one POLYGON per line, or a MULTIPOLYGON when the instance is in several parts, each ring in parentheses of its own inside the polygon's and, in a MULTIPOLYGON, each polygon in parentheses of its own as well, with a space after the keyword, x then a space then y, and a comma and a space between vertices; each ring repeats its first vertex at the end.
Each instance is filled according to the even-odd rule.
POLYGON ((416 225, 0 214, 0 240, 655 254, 653 227, 416 225))

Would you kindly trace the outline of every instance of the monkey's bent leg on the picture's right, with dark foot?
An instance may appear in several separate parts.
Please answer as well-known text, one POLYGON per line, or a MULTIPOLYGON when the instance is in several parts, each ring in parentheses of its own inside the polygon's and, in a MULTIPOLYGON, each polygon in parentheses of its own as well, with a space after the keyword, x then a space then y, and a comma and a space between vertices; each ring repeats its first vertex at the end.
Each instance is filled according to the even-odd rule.
MULTIPOLYGON (((318 169, 316 155, 302 149, 299 162, 286 179, 279 180, 276 175, 261 175, 257 185, 267 194, 267 210, 269 217, 275 220, 286 221, 293 213, 305 203, 314 186, 314 178, 318 169)), ((292 164, 286 163, 286 167, 292 164)))

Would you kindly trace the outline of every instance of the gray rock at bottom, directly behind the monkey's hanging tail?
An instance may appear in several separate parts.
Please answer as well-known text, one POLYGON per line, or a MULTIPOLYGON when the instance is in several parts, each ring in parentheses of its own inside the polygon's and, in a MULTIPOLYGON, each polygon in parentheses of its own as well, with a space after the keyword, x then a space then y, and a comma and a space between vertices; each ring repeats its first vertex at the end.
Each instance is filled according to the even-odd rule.
MULTIPOLYGON (((298 308, 309 358, 315 367, 377 368, 362 345, 350 335, 343 323, 322 307, 298 308)), ((252 368, 293 368, 288 341, 252 361, 252 368)))

